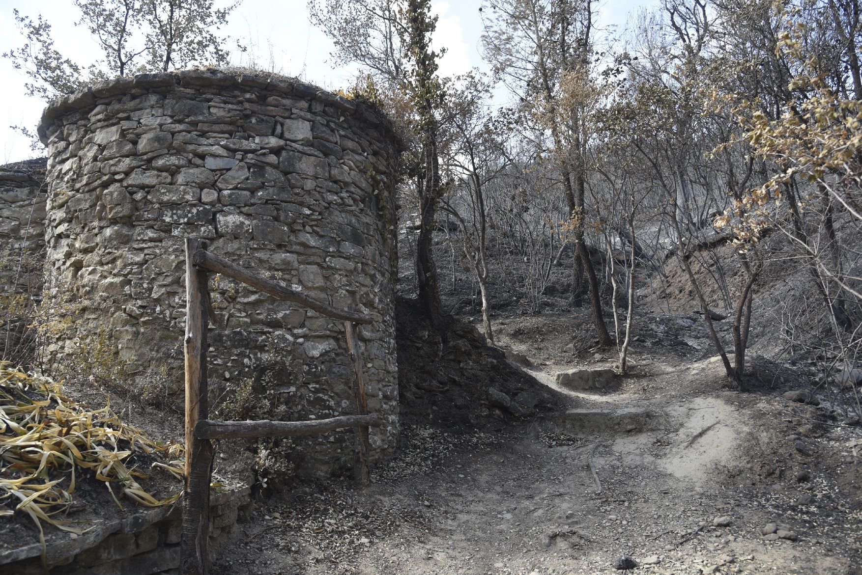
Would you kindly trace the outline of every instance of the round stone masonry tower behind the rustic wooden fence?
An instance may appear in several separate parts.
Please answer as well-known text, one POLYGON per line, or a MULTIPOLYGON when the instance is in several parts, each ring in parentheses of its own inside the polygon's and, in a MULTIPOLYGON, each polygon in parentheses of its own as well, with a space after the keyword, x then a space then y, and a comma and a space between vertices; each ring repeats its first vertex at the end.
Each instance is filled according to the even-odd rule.
MULTIPOLYGON (((47 347, 98 358, 134 393, 181 399, 184 238, 340 308, 359 338, 375 457, 397 442, 391 254, 397 142, 372 108, 284 77, 181 71, 100 83, 52 102, 46 298, 75 321, 47 347)), ((210 281, 211 416, 355 412, 343 327, 226 278, 210 281)), ((267 445, 271 472, 346 472, 354 432, 267 445), (287 460, 284 460, 285 455, 287 460), (289 465, 285 467, 284 461, 289 465)))

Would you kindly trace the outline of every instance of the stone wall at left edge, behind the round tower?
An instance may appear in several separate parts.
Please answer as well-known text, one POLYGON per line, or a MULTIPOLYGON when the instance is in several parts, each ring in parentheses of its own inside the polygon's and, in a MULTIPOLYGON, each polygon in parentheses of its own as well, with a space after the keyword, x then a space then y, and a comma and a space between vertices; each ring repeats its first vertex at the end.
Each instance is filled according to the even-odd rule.
POLYGON ((0 359, 28 365, 45 261, 44 158, 0 166, 0 359))

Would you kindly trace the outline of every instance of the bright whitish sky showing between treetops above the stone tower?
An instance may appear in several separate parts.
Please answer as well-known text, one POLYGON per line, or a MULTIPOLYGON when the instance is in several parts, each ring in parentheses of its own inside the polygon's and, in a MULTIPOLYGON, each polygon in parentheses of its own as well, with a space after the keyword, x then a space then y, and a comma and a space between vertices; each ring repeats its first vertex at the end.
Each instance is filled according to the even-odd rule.
MULTIPOLYGON (((629 15, 654 0, 600 0, 600 26, 622 28, 629 15)), ((447 54, 440 61, 440 75, 463 73, 473 67, 485 69, 479 53, 482 23, 479 19, 480 0, 437 0, 434 11, 440 16, 434 34, 436 46, 446 46, 447 54)), ((42 14, 52 25, 55 47, 79 64, 90 64, 100 57, 96 42, 74 22, 78 11, 72 0, 0 0, 0 53, 22 44, 13 9, 35 18, 42 14)), ((329 53, 332 43, 309 22, 305 0, 244 0, 231 16, 227 33, 249 46, 247 58, 256 59, 261 68, 274 65, 276 71, 298 76, 324 88, 349 85, 355 71, 335 67, 329 53), (271 64, 272 61, 272 64, 271 64)), ((239 56, 239 54, 238 54, 239 56)), ((0 164, 16 162, 40 155, 30 151, 28 140, 9 126, 34 127, 39 121, 44 102, 24 96, 26 77, 12 68, 8 59, 0 59, 3 77, 3 106, 0 110, 0 164)))

